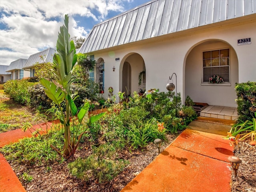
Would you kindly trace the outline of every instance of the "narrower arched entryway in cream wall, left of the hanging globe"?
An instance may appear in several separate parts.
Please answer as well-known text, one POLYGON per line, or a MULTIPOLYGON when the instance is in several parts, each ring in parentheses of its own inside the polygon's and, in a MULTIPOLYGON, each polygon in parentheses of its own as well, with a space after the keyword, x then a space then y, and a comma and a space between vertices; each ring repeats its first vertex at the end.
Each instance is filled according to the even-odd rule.
POLYGON ((120 84, 122 92, 130 96, 134 91, 146 89, 146 67, 142 56, 138 53, 127 54, 120 65, 120 84), (141 83, 139 84, 139 75, 141 83))

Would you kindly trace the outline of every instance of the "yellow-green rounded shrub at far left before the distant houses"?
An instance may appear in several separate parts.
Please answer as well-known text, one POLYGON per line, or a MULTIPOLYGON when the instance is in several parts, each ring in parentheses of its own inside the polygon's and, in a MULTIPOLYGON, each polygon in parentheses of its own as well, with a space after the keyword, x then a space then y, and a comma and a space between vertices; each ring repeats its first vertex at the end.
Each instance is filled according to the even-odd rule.
POLYGON ((30 103, 30 95, 28 93, 28 87, 34 85, 33 82, 27 80, 8 80, 4 84, 4 91, 19 104, 30 103))

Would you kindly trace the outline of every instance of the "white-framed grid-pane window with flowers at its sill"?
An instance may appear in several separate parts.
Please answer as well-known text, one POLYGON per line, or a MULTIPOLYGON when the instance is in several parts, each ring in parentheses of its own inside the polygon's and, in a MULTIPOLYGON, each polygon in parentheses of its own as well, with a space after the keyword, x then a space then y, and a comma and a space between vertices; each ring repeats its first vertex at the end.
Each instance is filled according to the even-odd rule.
POLYGON ((203 82, 209 82, 209 78, 218 75, 229 81, 229 49, 212 50, 203 52, 203 82))

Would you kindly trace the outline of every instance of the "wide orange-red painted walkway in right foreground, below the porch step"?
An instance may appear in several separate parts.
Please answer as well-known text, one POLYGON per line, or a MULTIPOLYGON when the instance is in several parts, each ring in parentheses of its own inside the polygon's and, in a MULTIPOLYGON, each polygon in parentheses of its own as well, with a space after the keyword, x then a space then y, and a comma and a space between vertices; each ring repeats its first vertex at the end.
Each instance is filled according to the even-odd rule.
POLYGON ((121 192, 230 192, 233 148, 222 137, 184 130, 121 192))

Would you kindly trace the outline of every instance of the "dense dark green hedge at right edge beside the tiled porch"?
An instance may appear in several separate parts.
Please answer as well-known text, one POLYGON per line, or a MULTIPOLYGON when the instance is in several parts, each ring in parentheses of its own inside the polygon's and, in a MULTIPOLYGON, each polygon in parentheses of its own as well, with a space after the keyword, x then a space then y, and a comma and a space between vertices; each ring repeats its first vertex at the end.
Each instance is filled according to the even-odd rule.
POLYGON ((246 121, 256 118, 256 82, 236 84, 236 103, 238 120, 246 121))

